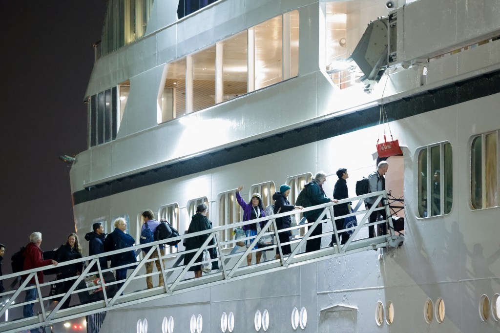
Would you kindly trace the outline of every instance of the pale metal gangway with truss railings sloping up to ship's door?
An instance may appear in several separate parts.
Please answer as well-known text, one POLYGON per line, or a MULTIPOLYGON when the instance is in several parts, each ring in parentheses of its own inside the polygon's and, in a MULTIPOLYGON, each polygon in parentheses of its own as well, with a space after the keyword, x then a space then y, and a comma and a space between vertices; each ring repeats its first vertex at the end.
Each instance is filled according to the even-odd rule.
POLYGON ((27 277, 20 283, 20 286, 18 288, 0 293, 0 297, 8 299, 6 304, 4 304, 0 309, 0 318, 2 318, 2 316, 8 309, 20 307, 28 303, 36 303, 39 304, 40 307, 40 312, 32 317, 9 319, 1 322, 0 331, 17 332, 19 330, 27 330, 30 328, 47 327, 56 322, 81 317, 84 315, 151 301, 181 292, 204 288, 210 285, 216 285, 232 280, 239 280, 259 274, 287 269, 288 267, 294 267, 360 251, 377 249, 380 247, 398 247, 400 244, 402 244, 402 237, 394 233, 392 218, 390 216, 390 211, 387 204, 387 193, 385 190, 342 199, 339 200, 337 204, 355 200, 363 200, 366 197, 372 196, 375 196, 375 201, 369 209, 357 210, 355 212, 342 216, 334 215, 333 206, 335 205, 335 203, 329 202, 303 208, 302 210, 292 210, 289 212, 283 212, 271 216, 253 219, 251 221, 231 223, 229 225, 217 226, 209 230, 203 230, 184 234, 174 238, 168 238, 169 241, 175 239, 179 239, 182 241, 183 239, 190 237, 208 235, 202 246, 188 251, 184 249, 174 253, 161 255, 159 245, 164 242, 164 240, 158 240, 152 243, 135 245, 132 247, 127 247, 125 249, 113 250, 98 255, 86 256, 81 259, 60 262, 58 264, 58 267, 78 262, 85 263, 86 261, 89 261, 88 265, 86 265, 80 275, 58 279, 55 281, 40 283, 36 274, 37 271, 53 268, 52 265, 0 276, 1 280, 5 280, 9 278, 17 278, 20 275, 27 275, 27 277), (380 207, 377 207, 379 202, 382 202, 382 205, 380 207), (314 222, 298 224, 279 230, 277 229, 275 221, 276 217, 295 215, 314 209, 322 209, 321 214, 314 222), (382 209, 385 210, 385 216, 387 216, 387 218, 369 223, 369 215, 375 210, 382 209), (356 216, 358 225, 337 230, 335 226, 335 220, 348 216, 356 216), (241 227, 245 224, 260 221, 264 222, 265 225, 263 228, 261 228, 260 232, 255 236, 253 240, 251 240, 250 237, 229 239, 224 241, 220 240, 220 235, 224 234, 225 230, 231 230, 235 227, 241 227), (330 231, 311 236, 313 228, 316 227, 319 223, 330 224, 332 228, 330 231), (387 234, 378 235, 373 238, 368 238, 367 236, 362 235, 363 230, 366 230, 368 226, 375 226, 381 223, 387 224, 387 234), (306 227, 307 231, 305 231, 306 227), (295 236, 288 242, 280 243, 278 233, 292 231, 294 229, 303 229, 304 235, 301 237, 295 236), (345 244, 341 244, 338 236, 340 232, 344 231, 352 231, 352 234, 345 244), (253 247, 257 245, 259 239, 264 235, 272 235, 274 239, 273 244, 264 246, 259 245, 258 249, 254 250, 253 247), (331 235, 334 235, 334 241, 332 242, 331 246, 324 246, 319 250, 312 252, 303 252, 304 245, 307 240, 323 236, 327 236, 328 239, 330 239, 331 235), (215 240, 214 244, 210 244, 212 243, 212 239, 215 240), (246 240, 249 243, 248 247, 237 247, 237 245, 235 245, 236 242, 242 240, 246 240), (281 245, 286 244, 289 244, 292 248, 292 251, 289 255, 284 255, 281 251, 281 245), (130 250, 140 251, 141 248, 149 246, 152 247, 136 263, 125 264, 107 269, 103 269, 100 266, 100 257, 110 256, 130 250), (217 258, 205 260, 202 262, 195 262, 196 258, 199 257, 205 249, 210 249, 213 247, 216 248, 216 252, 218 255, 217 258), (236 247, 236 250, 234 248, 232 248, 231 250, 231 247, 236 247), (272 255, 272 258, 263 260, 259 264, 252 264, 250 266, 246 265, 247 254, 263 250, 272 250, 272 253, 274 253, 276 248, 278 249, 278 252, 280 254, 279 259, 275 259, 274 255, 272 255), (144 272, 145 263, 158 260, 157 257, 151 257, 151 254, 153 252, 156 252, 157 256, 162 259, 159 260, 161 271, 153 271, 152 273, 146 274, 144 272), (183 262, 182 257, 184 256, 184 254, 189 252, 193 252, 194 255, 192 256, 192 259, 189 260, 189 262, 185 263, 183 262), (217 261, 219 263, 219 269, 210 271, 208 274, 204 274, 201 277, 194 278, 193 275, 189 272, 189 268, 193 265, 206 263, 208 261, 217 261), (129 273, 126 279, 118 281, 113 280, 113 278, 109 279, 109 272, 118 268, 129 269, 129 273), (146 285, 144 281, 146 277, 159 274, 162 274, 163 280, 165 281, 163 286, 154 287, 152 289, 137 290, 138 286, 144 287, 146 285), (35 280, 34 286, 27 286, 28 281, 32 277, 34 277, 35 280), (100 285, 93 285, 92 283, 88 285, 85 283, 88 279, 100 281, 100 285), (72 284, 66 293, 48 295, 50 285, 62 283, 65 281, 72 281, 72 284), (24 302, 23 293, 26 290, 32 288, 36 289, 35 300, 24 302), (82 295, 82 293, 85 292, 90 294, 95 291, 101 292, 102 297, 100 299, 61 309, 62 304, 70 295, 82 295), (58 300, 55 307, 53 307, 52 309, 45 308, 44 303, 52 302, 53 300, 58 300))

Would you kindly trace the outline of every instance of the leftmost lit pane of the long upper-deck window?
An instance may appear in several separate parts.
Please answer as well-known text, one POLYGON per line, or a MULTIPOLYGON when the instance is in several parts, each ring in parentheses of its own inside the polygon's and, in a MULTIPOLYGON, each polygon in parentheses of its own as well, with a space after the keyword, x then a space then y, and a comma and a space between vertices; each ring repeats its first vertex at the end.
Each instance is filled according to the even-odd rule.
MULTIPOLYGON (((165 88, 173 89, 172 118, 181 116, 186 109, 186 59, 167 64, 165 88)), ((166 120, 163 120, 166 121, 166 120)))

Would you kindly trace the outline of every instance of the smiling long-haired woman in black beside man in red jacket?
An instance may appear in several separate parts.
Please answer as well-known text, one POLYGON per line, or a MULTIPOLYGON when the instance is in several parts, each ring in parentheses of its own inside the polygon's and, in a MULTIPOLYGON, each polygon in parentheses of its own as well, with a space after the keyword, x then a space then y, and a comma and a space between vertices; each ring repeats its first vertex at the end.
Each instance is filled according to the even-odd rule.
MULTIPOLYGON (((81 247, 78 244, 78 236, 76 235, 76 233, 71 232, 67 236, 66 243, 61 245, 59 249, 57 249, 57 254, 55 256, 55 259, 57 260, 57 262, 64 262, 79 258, 81 258, 81 247)), ((83 264, 81 262, 75 262, 69 265, 60 266, 57 268, 57 279, 63 279, 79 275, 81 274, 82 268, 83 264)), ((61 283, 62 283, 62 292, 66 293, 71 287, 71 285, 73 285, 74 280, 68 280, 61 283)), ((67 308, 69 306, 70 300, 71 300, 71 295, 67 297, 67 299, 64 301, 64 303, 60 308, 67 308)))

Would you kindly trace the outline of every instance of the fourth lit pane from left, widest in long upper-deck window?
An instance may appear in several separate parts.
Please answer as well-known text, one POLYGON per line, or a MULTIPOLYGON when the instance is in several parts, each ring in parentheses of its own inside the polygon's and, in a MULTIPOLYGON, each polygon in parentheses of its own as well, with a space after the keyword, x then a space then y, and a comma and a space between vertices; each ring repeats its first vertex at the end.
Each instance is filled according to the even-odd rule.
POLYGON ((255 25, 255 89, 282 80, 282 17, 255 25))

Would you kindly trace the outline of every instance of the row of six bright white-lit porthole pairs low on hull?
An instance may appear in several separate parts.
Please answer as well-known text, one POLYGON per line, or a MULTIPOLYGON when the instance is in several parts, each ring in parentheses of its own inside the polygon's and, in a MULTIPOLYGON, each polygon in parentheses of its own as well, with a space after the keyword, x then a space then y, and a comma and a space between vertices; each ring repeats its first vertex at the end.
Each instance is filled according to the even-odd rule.
MULTIPOLYGON (((307 310, 305 307, 301 307, 300 311, 294 307, 291 311, 291 327, 297 329, 299 326, 301 329, 305 328, 307 324, 307 310)), ((263 312, 257 310, 254 316, 255 330, 259 331, 262 328, 266 331, 269 328, 269 312, 265 309, 263 312)), ((222 333, 226 331, 232 332, 234 329, 234 313, 229 312, 229 314, 222 312, 220 317, 220 330, 222 333)), ((201 314, 195 316, 191 315, 189 321, 189 330, 191 333, 201 333, 203 330, 203 317, 201 314)), ((147 333, 147 319, 144 318, 137 320, 136 326, 137 333, 147 333)), ((163 317, 163 322, 161 324, 162 333, 173 333, 173 317, 163 317)))

